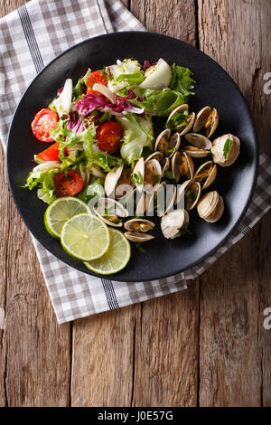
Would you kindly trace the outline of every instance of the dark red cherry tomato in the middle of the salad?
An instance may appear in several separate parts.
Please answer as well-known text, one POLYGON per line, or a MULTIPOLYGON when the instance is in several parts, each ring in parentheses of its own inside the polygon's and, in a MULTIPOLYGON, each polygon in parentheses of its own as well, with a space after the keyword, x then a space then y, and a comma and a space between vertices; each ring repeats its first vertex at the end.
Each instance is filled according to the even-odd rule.
POLYGON ((98 127, 98 148, 107 154, 115 154, 120 146, 122 127, 118 122, 104 122, 98 127))

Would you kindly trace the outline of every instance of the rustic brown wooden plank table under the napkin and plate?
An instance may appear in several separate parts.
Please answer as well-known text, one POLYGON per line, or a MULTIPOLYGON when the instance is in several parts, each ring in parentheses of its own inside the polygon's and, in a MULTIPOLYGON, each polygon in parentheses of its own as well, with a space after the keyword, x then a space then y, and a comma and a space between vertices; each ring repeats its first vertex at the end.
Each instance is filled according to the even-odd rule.
MULTIPOLYGON (((0 2, 5 15, 23 0, 0 2)), ((271 157, 270 0, 123 0, 154 32, 199 47, 246 96, 271 157)), ((230 105, 229 105, 230 108, 230 105)), ((59 326, 1 151, 0 404, 271 406, 271 214, 189 289, 59 326)))

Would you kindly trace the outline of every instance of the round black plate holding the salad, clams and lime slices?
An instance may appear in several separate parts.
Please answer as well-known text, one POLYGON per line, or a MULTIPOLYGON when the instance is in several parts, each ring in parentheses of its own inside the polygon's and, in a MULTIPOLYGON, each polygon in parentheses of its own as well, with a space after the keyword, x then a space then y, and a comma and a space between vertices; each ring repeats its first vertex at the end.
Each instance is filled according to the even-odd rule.
POLYGON ((51 238, 43 224, 45 203, 37 198, 35 191, 20 187, 33 168, 33 154, 46 147, 33 137, 30 123, 35 113, 49 104, 66 78, 71 77, 75 82, 89 67, 97 70, 115 63, 117 59, 131 57, 141 62, 155 62, 163 57, 171 64, 176 62, 189 67, 197 80, 191 110, 198 111, 206 105, 217 108, 220 126, 216 137, 225 133, 238 136, 241 152, 234 165, 219 167, 218 177, 212 186, 225 201, 225 213, 220 222, 203 222, 196 212, 192 212, 192 235, 167 241, 157 231, 155 240, 145 244, 146 252, 133 249, 126 269, 112 276, 120 281, 171 276, 191 268, 217 250, 229 238, 248 208, 258 165, 256 131, 246 101, 229 75, 209 56, 185 42, 154 33, 113 33, 81 42, 51 61, 33 80, 14 113, 8 138, 7 170, 14 202, 29 230, 47 250, 75 269, 94 274, 83 263, 66 254, 59 241, 51 238))

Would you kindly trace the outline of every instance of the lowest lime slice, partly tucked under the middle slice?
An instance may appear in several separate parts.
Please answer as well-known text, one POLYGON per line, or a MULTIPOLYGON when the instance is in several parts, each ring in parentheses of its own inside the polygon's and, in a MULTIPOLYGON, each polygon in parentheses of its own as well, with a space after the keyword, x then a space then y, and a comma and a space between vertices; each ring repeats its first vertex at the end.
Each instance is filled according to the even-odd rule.
POLYGON ((109 233, 107 252, 98 260, 84 262, 88 269, 100 275, 109 275, 124 269, 131 257, 131 247, 125 235, 115 229, 109 229, 109 233))

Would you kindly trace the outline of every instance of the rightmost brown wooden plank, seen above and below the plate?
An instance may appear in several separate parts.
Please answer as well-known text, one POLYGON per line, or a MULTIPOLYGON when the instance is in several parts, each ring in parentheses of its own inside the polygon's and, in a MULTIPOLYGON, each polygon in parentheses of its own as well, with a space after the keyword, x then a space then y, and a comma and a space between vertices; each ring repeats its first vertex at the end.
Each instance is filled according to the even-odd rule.
MULTIPOLYGON (((257 122, 261 148, 270 155, 270 1, 199 1, 201 50, 229 72, 257 122)), ((201 277, 200 403, 202 406, 270 405, 270 213, 201 277), (269 224, 269 225, 268 225, 269 224)))

